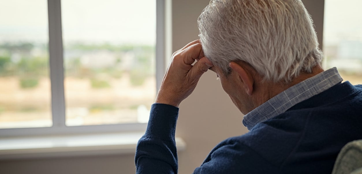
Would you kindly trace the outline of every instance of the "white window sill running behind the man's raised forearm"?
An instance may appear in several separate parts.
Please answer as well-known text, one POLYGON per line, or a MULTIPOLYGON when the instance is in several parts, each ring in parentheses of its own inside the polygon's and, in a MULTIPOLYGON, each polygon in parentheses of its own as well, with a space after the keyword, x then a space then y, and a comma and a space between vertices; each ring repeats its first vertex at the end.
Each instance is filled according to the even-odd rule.
MULTIPOLYGON (((0 139, 0 160, 134 154, 144 132, 90 135, 14 137, 0 139)), ((178 151, 184 140, 176 137, 178 151)))

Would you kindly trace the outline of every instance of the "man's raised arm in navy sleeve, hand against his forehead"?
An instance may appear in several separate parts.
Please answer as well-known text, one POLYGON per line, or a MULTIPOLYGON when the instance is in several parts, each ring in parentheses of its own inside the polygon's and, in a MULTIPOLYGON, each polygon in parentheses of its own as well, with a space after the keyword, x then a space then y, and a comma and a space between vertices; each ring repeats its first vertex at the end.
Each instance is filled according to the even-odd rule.
POLYGON ((172 55, 171 63, 152 105, 150 120, 136 148, 136 172, 177 173, 175 128, 178 105, 195 89, 201 75, 212 64, 199 41, 187 44, 172 55), (198 60, 194 65, 195 60, 198 60))

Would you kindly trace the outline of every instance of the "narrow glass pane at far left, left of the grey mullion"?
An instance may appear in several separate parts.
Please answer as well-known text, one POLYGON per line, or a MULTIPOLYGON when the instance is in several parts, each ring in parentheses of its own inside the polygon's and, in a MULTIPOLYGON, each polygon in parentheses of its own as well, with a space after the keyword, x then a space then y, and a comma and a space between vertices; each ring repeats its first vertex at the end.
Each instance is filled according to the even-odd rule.
POLYGON ((46 0, 1 1, 0 128, 50 127, 46 0))

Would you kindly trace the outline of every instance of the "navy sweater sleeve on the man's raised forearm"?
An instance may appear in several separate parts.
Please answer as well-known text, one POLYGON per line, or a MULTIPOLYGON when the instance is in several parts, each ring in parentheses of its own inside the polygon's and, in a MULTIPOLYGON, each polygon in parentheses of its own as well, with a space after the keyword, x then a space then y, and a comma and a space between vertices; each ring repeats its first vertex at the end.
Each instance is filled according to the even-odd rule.
POLYGON ((152 105, 146 133, 136 147, 136 173, 177 173, 177 116, 177 107, 160 103, 152 105))

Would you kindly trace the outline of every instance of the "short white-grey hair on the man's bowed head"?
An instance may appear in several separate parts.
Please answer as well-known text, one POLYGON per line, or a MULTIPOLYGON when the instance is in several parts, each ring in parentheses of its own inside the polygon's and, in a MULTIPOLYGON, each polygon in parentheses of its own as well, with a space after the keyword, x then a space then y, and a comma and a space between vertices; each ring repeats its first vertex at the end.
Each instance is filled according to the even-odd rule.
POLYGON ((226 75, 231 61, 245 61, 264 80, 288 83, 323 59, 300 0, 211 0, 197 22, 204 55, 226 75))

